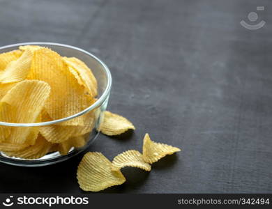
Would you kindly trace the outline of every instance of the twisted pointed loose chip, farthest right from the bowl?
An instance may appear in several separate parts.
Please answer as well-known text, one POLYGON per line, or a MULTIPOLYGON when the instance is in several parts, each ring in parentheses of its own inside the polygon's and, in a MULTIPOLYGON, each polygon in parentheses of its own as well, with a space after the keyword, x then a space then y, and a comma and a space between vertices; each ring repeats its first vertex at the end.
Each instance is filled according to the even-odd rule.
POLYGON ((152 164, 165 157, 165 155, 172 155, 179 151, 180 149, 174 146, 151 141, 149 134, 144 136, 143 158, 145 162, 152 164))

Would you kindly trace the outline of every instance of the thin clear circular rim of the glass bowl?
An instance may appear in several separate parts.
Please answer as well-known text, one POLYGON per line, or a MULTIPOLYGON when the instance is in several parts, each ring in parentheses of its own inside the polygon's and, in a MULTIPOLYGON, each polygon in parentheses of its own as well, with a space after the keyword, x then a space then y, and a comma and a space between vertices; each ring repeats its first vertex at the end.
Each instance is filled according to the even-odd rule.
POLYGON ((35 127, 35 126, 44 126, 44 125, 52 125, 55 123, 61 123, 63 121, 68 121, 70 119, 76 118, 78 116, 82 116, 84 114, 86 114, 87 112, 95 109, 96 107, 99 107, 101 104, 103 104, 103 102, 105 102, 105 100, 107 100, 110 90, 112 88, 112 75, 109 71, 109 68, 107 68, 107 65, 101 61, 97 56, 94 56, 93 54, 91 54, 90 52, 87 52, 84 49, 81 49, 79 47, 74 47, 71 45, 66 45, 66 44, 61 44, 61 43, 56 43, 56 42, 20 42, 20 43, 16 43, 13 45, 6 45, 3 47, 0 47, 1 49, 7 49, 10 47, 20 47, 22 45, 53 45, 56 47, 66 47, 69 49, 74 49, 77 51, 80 51, 88 56, 91 56, 93 59, 95 59, 96 61, 98 61, 98 63, 100 63, 100 65, 102 65, 103 70, 105 71, 105 74, 107 76, 107 86, 105 88, 105 91, 103 92, 103 94, 100 96, 100 98, 98 100, 96 100, 96 102, 94 102, 93 104, 91 104, 91 106, 87 107, 86 109, 78 112, 77 114, 73 114, 72 116, 68 116, 66 118, 60 118, 54 121, 46 121, 46 122, 40 122, 40 123, 8 123, 8 122, 2 122, 0 121, 0 125, 4 125, 4 126, 12 126, 12 127, 35 127))

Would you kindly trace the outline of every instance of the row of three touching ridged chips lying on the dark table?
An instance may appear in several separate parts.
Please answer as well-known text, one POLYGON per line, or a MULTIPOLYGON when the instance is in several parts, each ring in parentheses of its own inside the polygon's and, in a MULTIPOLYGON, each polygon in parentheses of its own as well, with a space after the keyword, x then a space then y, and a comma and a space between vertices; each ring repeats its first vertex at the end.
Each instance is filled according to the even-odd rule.
MULTIPOLYGON (((116 125, 116 128, 119 129, 119 125, 116 125)), ((142 153, 137 150, 128 150, 114 157, 112 162, 102 153, 86 153, 77 168, 77 180, 84 191, 98 192, 107 187, 123 184, 126 181, 121 173, 123 167, 137 167, 151 171, 150 164, 157 162, 165 155, 172 155, 179 151, 180 149, 174 146, 151 141, 149 134, 146 134, 142 153)))

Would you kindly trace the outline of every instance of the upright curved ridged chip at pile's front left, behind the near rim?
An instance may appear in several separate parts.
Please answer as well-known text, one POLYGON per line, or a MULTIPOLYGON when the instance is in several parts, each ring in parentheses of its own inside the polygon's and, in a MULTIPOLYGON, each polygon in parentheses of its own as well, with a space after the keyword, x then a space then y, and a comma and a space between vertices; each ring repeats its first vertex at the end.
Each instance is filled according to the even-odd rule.
MULTIPOLYGON (((35 123, 49 95, 50 86, 45 82, 26 80, 16 84, 1 100, 1 103, 9 104, 1 121, 35 123)), ((31 128, 12 127, 7 142, 24 144, 31 128)))

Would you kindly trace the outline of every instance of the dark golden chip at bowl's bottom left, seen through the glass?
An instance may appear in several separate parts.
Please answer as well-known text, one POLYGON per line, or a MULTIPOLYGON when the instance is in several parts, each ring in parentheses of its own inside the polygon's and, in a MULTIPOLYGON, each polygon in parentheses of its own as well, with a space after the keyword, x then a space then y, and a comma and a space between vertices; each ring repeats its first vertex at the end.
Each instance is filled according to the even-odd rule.
POLYGON ((5 152, 5 154, 10 157, 20 157, 24 159, 29 159, 29 157, 40 153, 40 151, 43 150, 46 143, 47 141, 45 141, 45 138, 39 135, 38 139, 36 140, 36 144, 32 146, 27 146, 26 148, 23 148, 22 150, 13 151, 13 152, 5 152))

